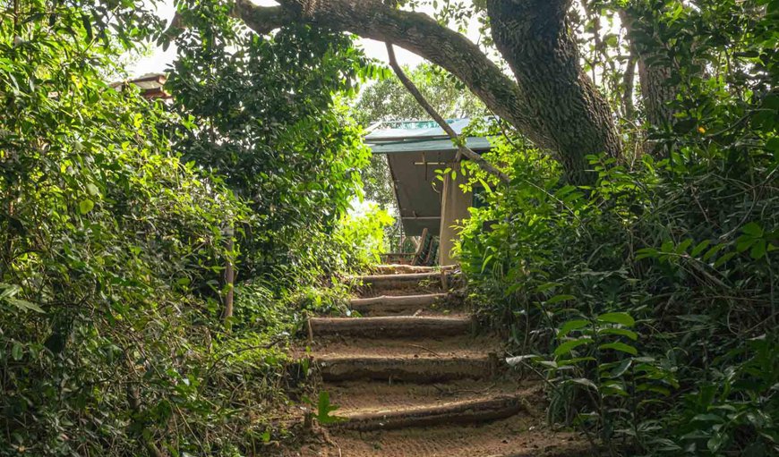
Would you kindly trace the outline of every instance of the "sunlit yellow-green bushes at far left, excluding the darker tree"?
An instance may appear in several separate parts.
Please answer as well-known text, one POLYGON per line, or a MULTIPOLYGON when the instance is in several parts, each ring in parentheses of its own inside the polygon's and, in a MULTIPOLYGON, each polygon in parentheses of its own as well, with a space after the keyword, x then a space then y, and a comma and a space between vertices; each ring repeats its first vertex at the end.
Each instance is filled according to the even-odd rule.
POLYGON ((16 5, 0 22, 0 455, 255 453, 280 432, 258 411, 283 400, 295 314, 266 301, 260 329, 224 332, 240 254, 224 229, 250 210, 172 152, 186 123, 105 82, 157 22, 133 2, 16 5))

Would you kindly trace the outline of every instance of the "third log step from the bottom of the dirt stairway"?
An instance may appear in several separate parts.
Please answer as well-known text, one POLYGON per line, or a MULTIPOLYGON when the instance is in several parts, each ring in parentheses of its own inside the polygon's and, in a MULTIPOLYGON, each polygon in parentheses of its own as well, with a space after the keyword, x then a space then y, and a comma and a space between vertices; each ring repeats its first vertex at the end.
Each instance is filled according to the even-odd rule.
POLYGON ((422 337, 467 334, 474 328, 471 317, 312 317, 312 334, 326 336, 422 337))

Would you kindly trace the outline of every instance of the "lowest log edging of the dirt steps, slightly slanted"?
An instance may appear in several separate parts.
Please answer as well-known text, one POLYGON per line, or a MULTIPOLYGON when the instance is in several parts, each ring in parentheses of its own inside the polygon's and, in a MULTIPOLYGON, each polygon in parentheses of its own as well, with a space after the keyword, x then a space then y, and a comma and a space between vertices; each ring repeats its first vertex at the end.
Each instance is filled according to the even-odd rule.
POLYGON ((506 419, 527 410, 521 395, 500 395, 463 402, 424 406, 399 410, 350 411, 339 415, 345 420, 335 427, 354 430, 391 430, 405 427, 432 427, 442 424, 479 423, 506 419))

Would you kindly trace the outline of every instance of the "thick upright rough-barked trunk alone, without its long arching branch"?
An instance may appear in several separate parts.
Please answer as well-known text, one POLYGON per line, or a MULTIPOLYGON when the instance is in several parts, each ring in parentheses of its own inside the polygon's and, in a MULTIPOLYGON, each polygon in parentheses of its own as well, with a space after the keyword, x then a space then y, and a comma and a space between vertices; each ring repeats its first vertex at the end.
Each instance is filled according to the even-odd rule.
POLYGON ((567 14, 571 0, 488 0, 492 38, 541 121, 544 144, 558 152, 573 181, 586 181, 586 156, 619 157, 608 104, 582 71, 567 14), (574 175, 573 173, 578 173, 574 175))

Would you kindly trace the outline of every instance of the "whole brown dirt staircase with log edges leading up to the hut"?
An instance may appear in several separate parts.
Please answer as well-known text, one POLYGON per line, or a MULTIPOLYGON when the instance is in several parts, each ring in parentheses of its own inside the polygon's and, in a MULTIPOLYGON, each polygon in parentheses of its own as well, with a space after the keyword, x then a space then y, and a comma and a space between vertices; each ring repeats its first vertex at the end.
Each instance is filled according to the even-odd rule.
POLYGON ((343 418, 302 456, 582 456, 544 427, 535 381, 518 382, 500 341, 452 308, 451 271, 385 267, 357 279, 362 317, 310 320, 321 389, 343 418))

